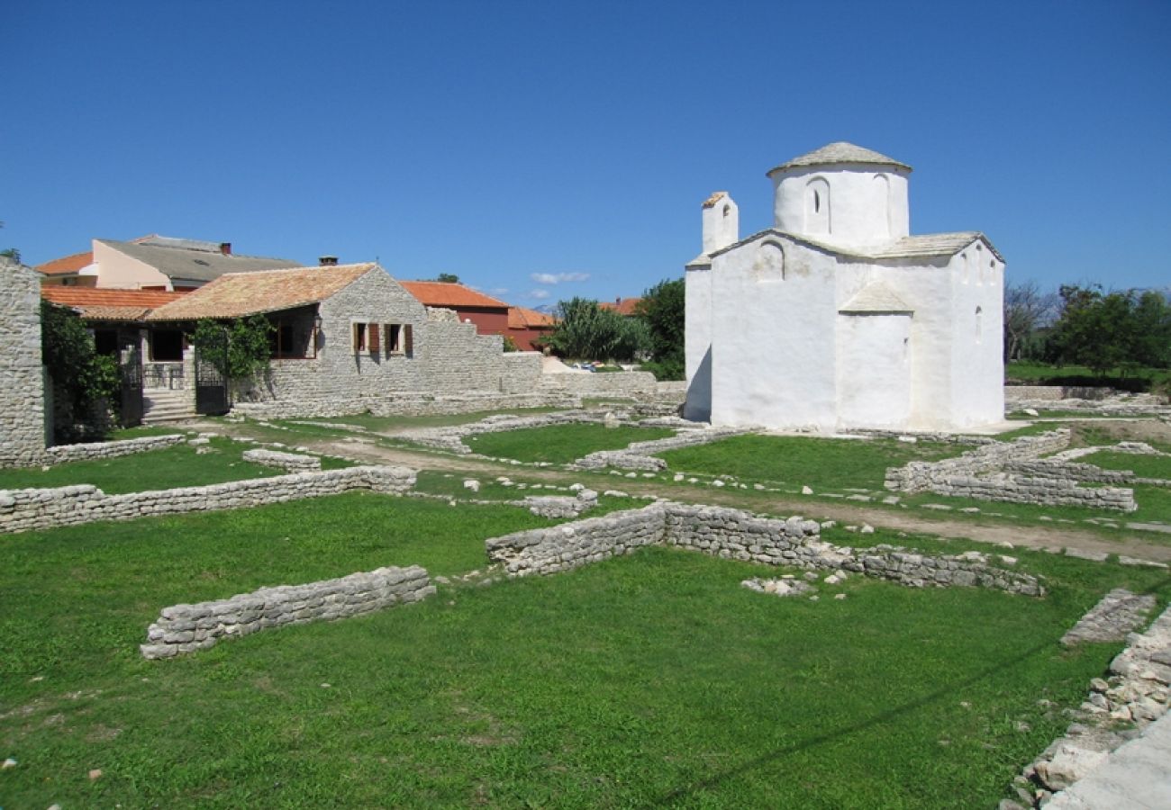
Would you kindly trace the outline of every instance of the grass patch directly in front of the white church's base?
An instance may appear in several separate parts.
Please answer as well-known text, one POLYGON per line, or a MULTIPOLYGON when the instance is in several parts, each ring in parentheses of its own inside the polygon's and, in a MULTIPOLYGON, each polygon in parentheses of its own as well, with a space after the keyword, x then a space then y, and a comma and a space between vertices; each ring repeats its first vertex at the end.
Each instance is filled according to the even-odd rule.
POLYGON ((959 455, 967 445, 895 439, 819 439, 781 435, 734 435, 698 447, 659 453, 674 472, 734 475, 790 488, 808 486, 882 489, 888 467, 908 461, 959 455))

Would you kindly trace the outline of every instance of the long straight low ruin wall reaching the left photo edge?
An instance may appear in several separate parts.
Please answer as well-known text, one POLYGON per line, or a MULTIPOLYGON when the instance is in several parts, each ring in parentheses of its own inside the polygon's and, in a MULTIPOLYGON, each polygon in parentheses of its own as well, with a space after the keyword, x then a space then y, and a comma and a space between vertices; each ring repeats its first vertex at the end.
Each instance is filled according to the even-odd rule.
POLYGON ((0 489, 0 534, 256 507, 354 489, 400 494, 413 486, 415 471, 406 467, 347 467, 126 495, 107 495, 89 483, 54 489, 0 489))

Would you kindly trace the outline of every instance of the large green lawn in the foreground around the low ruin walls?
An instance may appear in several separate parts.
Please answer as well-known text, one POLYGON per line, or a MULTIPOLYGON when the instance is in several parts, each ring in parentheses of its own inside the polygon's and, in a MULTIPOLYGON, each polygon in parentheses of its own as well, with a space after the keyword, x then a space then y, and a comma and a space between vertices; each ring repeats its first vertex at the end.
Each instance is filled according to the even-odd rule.
POLYGON ((539 524, 351 494, 5 537, 4 805, 994 806, 1121 646, 1057 638, 1109 588, 1164 579, 1026 555, 1045 599, 854 577, 810 602, 739 585, 773 569, 646 549, 137 653, 164 605, 384 564, 453 574, 539 524))

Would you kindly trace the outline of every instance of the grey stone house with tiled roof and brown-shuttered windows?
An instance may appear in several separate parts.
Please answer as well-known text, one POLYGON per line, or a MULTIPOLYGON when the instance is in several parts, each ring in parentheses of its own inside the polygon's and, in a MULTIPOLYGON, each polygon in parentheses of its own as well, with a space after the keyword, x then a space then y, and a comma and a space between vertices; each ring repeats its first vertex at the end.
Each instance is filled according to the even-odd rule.
MULTIPOLYGON (((245 400, 289 413, 361 412, 389 397, 530 391, 540 357, 501 350, 450 309, 425 307, 376 263, 227 274, 155 309, 150 328, 266 316, 271 373, 245 400)), ((196 380, 198 386, 198 380, 196 380)))

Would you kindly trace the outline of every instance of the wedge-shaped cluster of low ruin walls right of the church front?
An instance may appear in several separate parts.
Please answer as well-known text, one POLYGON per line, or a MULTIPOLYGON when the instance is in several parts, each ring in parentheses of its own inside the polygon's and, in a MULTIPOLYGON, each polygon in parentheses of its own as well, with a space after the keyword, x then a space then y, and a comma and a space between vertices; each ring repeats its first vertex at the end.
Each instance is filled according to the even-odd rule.
MULTIPOLYGON (((1134 512, 1132 489, 1078 487, 1087 480, 1088 465, 1054 461, 1040 457, 1069 446, 1068 430, 994 442, 940 461, 911 461, 886 471, 885 487, 895 492, 931 492, 951 497, 1008 501, 1043 506, 1081 506, 1091 509, 1134 512), (1025 474, 1019 474, 1021 471, 1025 474)), ((1102 473, 1097 480, 1111 480, 1102 473)))

